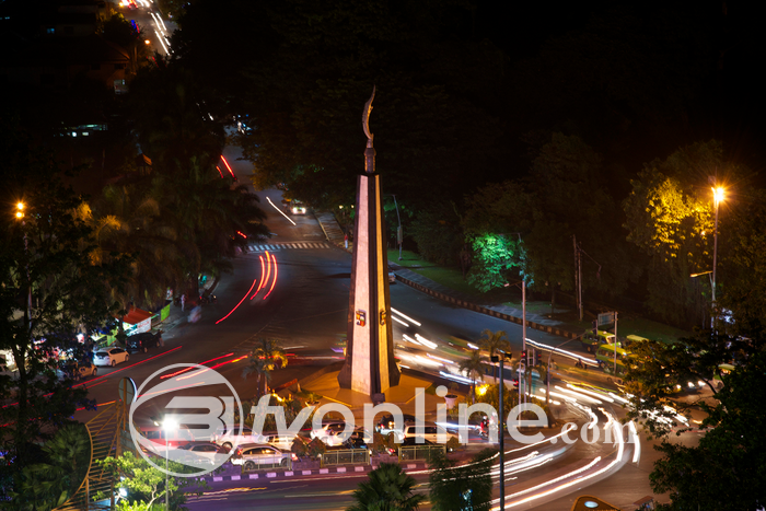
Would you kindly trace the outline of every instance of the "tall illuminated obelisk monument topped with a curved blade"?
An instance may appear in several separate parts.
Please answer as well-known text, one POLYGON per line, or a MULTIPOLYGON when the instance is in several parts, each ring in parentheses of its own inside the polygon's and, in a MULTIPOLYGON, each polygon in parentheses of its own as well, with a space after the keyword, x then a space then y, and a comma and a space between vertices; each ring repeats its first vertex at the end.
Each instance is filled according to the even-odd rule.
POLYGON ((394 360, 388 294, 388 258, 381 201, 381 178, 375 173, 375 150, 370 132, 372 96, 364 105, 362 128, 367 135, 364 173, 357 177, 357 217, 353 221, 353 260, 348 300, 348 348, 346 363, 338 374, 344 388, 369 396, 383 393, 399 383, 394 360))

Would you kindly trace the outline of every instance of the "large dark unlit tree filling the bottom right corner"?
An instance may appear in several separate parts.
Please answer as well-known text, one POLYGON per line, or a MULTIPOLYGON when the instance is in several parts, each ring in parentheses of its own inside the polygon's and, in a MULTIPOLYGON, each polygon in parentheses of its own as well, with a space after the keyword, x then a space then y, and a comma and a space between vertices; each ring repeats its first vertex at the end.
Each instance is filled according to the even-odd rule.
POLYGON ((757 352, 747 363, 723 376, 717 403, 700 403, 708 416, 699 445, 688 448, 664 441, 657 449, 663 457, 650 474, 652 489, 670 492, 663 510, 759 509, 766 487, 766 355, 757 352))

